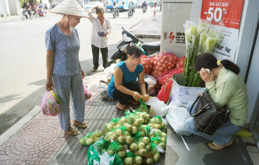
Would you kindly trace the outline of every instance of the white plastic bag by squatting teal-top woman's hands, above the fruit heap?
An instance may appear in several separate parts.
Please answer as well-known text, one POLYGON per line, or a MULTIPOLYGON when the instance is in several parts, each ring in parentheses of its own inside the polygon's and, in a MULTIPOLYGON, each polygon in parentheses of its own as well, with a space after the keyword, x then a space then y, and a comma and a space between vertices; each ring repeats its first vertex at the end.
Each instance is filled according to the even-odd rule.
POLYGON ((149 99, 148 102, 146 102, 147 105, 150 105, 150 115, 151 117, 155 117, 155 116, 161 116, 161 118, 165 118, 167 113, 168 113, 168 109, 162 110, 161 108, 167 106, 167 104, 164 103, 164 101, 160 101, 157 97, 153 97, 153 99, 149 99), (164 114, 164 115, 163 115, 164 114))

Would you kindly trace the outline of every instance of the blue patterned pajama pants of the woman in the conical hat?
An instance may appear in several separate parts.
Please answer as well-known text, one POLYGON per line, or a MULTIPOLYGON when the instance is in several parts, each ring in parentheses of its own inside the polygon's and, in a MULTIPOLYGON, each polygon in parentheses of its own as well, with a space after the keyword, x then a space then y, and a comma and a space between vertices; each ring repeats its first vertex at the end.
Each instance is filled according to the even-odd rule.
POLYGON ((63 101, 62 104, 59 104, 60 114, 58 114, 61 129, 68 130, 70 128, 70 96, 72 98, 73 119, 84 122, 85 100, 81 72, 71 76, 53 74, 52 81, 53 92, 63 101))

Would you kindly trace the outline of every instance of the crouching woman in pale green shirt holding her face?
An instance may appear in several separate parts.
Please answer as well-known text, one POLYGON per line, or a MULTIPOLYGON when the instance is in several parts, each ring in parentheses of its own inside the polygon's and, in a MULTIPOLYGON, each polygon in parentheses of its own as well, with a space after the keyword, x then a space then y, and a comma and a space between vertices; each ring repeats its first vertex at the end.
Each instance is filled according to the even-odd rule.
MULTIPOLYGON (((239 132, 246 123, 247 89, 243 78, 239 75, 240 68, 229 60, 219 61, 210 53, 201 53, 196 58, 194 68, 199 71, 202 79, 206 82, 206 88, 216 107, 219 109, 226 105, 227 108, 231 109, 231 114, 229 121, 223 123, 213 135, 198 132, 192 118, 186 120, 185 127, 193 134, 214 141, 209 144, 212 149, 221 150, 232 145, 233 134, 239 132), (204 68, 209 69, 210 73, 204 68), (201 69, 205 70, 205 73, 201 69)), ((192 103, 189 102, 186 106, 188 112, 192 103)), ((195 106, 192 111, 194 108, 195 106)))

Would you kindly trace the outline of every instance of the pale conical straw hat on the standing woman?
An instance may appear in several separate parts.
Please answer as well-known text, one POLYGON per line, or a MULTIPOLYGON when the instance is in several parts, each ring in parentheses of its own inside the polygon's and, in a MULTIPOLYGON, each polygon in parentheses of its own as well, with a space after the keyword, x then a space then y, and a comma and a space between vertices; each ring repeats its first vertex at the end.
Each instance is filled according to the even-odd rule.
POLYGON ((89 18, 84 9, 78 4, 78 2, 76 2, 76 0, 64 0, 49 12, 89 18))

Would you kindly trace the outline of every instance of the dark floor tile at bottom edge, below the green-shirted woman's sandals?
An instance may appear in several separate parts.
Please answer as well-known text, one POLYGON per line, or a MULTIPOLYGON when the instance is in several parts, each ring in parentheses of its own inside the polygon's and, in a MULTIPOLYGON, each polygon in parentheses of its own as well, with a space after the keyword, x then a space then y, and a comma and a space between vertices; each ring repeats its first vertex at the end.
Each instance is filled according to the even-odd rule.
POLYGON ((210 164, 210 165, 236 165, 236 160, 234 154, 225 150, 204 150, 199 149, 201 164, 210 164))

